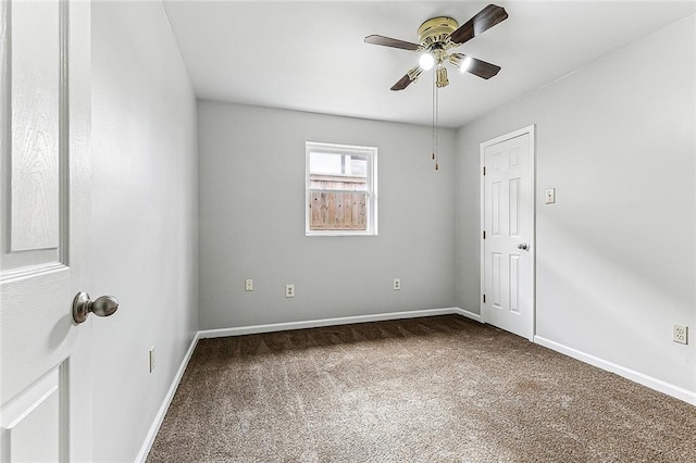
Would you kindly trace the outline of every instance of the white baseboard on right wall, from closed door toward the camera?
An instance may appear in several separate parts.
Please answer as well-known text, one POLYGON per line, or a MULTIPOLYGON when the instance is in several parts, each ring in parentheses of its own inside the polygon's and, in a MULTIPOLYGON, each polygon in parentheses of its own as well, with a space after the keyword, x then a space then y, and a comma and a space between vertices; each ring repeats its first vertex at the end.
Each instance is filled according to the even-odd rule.
POLYGON ((573 349, 550 339, 546 339, 542 336, 534 336, 534 342, 539 346, 544 346, 545 348, 555 350, 556 352, 572 356, 573 359, 580 360, 581 362, 585 362, 598 368, 605 370, 607 372, 616 373, 619 376, 623 376, 626 379, 649 387, 650 389, 655 389, 675 399, 683 400, 684 402, 691 403, 692 405, 696 405, 695 391, 674 386, 661 379, 654 378, 634 370, 626 368, 625 366, 618 365, 613 362, 609 362, 589 353, 582 352, 577 349, 573 349))

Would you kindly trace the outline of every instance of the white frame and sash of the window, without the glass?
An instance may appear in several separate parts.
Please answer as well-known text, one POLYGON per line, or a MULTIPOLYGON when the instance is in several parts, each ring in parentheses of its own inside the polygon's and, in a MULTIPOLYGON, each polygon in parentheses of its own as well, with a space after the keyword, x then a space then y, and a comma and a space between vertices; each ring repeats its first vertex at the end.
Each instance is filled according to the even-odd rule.
MULTIPOLYGON (((304 235, 306 236, 377 236, 377 148, 360 147, 355 145, 323 143, 319 141, 307 141, 304 143, 304 235), (368 158, 366 173, 366 229, 365 230, 311 230, 310 223, 312 212, 310 209, 310 198, 313 191, 325 191, 310 188, 310 154, 313 151, 332 154, 359 154, 368 158)), ((340 191, 340 190, 334 190, 340 191)), ((355 191, 350 191, 355 192, 355 191)))

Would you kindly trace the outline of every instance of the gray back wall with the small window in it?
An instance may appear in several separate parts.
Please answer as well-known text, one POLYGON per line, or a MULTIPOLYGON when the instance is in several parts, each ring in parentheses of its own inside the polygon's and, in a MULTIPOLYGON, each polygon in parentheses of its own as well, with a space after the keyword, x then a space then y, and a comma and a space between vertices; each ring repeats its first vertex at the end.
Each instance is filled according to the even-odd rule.
POLYGON ((428 127, 209 101, 198 113, 201 329, 453 305, 453 130, 436 172, 428 127), (304 236, 308 140, 378 148, 378 236, 304 236))

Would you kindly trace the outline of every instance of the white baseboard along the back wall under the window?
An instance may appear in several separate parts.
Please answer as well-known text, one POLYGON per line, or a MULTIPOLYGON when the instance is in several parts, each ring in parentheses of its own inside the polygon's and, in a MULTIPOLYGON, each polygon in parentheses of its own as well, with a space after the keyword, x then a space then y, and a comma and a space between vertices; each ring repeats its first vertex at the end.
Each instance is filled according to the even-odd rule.
MULTIPOLYGON (((372 315, 341 316, 337 318, 308 320, 303 322, 272 323, 269 325, 239 326, 234 328, 203 329, 198 331, 198 337, 199 339, 222 338, 226 336, 256 335, 259 333, 286 331, 288 329, 349 325, 351 323, 383 322, 386 320, 417 318, 419 316, 448 315, 453 313, 468 316, 464 314, 464 311, 458 308, 426 309, 408 312, 377 313, 372 315)), ((471 315, 475 314, 472 313, 471 315)))

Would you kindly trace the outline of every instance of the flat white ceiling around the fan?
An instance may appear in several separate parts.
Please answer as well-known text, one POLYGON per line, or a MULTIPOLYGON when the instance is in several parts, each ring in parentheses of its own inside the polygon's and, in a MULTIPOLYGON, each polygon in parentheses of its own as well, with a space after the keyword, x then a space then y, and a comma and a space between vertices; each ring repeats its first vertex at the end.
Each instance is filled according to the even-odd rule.
MULTIPOLYGON (((363 39, 418 42, 423 21, 462 24, 488 3, 165 0, 164 8, 199 98, 427 125, 432 71, 391 91, 418 54, 363 39)), ((696 11, 694 1, 495 3, 509 17, 457 51, 502 70, 484 80, 450 68, 439 93, 443 126, 462 126, 696 11)))

